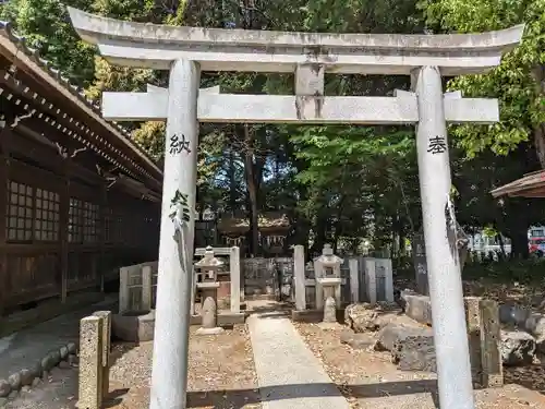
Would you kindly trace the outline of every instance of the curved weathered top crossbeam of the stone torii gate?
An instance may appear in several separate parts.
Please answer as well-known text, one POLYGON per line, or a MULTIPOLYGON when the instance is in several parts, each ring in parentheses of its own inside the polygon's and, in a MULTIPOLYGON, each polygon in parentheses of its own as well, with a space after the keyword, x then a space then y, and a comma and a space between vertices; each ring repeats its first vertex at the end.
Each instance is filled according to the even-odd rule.
POLYGON ((318 34, 175 27, 124 22, 69 8, 80 36, 120 65, 168 70, 197 61, 202 71, 293 72, 317 63, 326 72, 409 74, 423 65, 443 75, 481 73, 500 62, 524 26, 482 34, 318 34))

